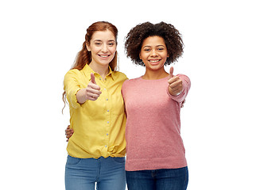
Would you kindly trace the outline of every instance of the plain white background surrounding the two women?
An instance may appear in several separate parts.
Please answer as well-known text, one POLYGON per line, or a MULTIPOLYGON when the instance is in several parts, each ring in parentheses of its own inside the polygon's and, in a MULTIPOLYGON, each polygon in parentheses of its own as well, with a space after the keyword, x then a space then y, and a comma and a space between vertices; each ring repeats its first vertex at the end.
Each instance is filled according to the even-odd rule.
POLYGON ((188 190, 256 189, 255 17, 248 0, 0 2, 1 189, 64 189, 63 78, 95 21, 118 27, 129 78, 144 74, 124 53, 130 28, 165 21, 180 30, 174 74, 192 81, 181 112, 188 190))

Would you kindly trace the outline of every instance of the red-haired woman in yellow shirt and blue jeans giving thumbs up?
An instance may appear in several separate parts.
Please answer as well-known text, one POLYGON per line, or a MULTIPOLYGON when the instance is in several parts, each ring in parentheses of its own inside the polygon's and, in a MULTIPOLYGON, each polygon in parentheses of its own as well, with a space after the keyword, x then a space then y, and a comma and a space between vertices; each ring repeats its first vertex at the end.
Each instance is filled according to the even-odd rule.
POLYGON ((122 83, 125 74, 117 66, 118 29, 108 22, 87 28, 76 63, 64 77, 64 98, 70 108, 68 190, 124 190, 125 124, 122 83))

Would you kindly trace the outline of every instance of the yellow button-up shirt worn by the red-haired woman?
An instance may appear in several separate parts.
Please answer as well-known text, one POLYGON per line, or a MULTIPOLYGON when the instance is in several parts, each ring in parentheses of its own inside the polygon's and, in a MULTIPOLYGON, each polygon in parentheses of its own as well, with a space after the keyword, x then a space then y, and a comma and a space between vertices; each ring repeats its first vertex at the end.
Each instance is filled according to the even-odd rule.
POLYGON ((68 154, 76 158, 124 157, 126 154, 126 114, 122 99, 122 83, 126 74, 112 71, 106 78, 88 65, 82 70, 69 70, 64 77, 64 90, 70 109, 70 127, 74 134, 68 140, 68 154), (101 94, 96 101, 80 105, 76 93, 86 88, 95 74, 101 94))

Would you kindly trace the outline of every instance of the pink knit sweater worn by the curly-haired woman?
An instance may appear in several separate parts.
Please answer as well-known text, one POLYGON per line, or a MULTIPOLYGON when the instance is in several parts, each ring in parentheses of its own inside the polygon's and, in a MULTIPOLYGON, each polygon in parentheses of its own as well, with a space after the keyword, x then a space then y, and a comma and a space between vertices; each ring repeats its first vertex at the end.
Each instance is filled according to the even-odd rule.
POLYGON ((134 78, 122 86, 126 105, 126 170, 175 169, 187 165, 180 136, 180 105, 190 80, 178 74, 184 90, 168 92, 168 78, 134 78))

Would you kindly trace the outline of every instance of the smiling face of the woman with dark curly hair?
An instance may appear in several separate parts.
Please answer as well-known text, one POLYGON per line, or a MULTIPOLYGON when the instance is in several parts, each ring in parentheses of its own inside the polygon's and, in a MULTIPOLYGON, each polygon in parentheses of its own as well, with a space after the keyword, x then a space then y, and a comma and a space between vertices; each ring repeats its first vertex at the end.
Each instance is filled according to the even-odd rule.
POLYGON ((165 40, 160 36, 149 36, 142 43, 140 59, 147 70, 164 69, 168 58, 165 40))

